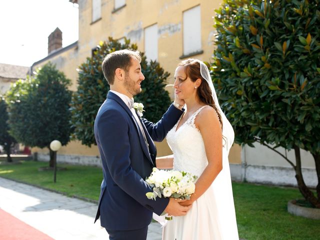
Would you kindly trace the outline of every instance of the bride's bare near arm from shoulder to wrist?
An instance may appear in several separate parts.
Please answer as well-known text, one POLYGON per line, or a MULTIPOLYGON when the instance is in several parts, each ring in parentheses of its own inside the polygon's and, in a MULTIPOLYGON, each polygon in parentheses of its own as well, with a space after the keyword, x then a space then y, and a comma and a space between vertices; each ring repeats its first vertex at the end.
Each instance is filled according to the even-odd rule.
POLYGON ((189 205, 199 198, 222 170, 222 129, 215 110, 203 108, 195 118, 195 126, 202 135, 208 165, 195 183, 195 192, 181 205, 189 205))

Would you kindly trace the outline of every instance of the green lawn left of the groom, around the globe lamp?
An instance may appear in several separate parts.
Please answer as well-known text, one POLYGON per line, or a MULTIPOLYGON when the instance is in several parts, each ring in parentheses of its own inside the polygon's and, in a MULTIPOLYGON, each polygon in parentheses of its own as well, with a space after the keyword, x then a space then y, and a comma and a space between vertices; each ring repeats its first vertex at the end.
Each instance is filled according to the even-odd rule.
POLYGON ((21 164, 0 164, 0 176, 63 192, 68 196, 98 200, 103 178, 101 168, 58 164, 58 167, 66 169, 56 172, 54 183, 52 170, 38 170, 43 166, 48 166, 48 162, 24 161, 21 164))

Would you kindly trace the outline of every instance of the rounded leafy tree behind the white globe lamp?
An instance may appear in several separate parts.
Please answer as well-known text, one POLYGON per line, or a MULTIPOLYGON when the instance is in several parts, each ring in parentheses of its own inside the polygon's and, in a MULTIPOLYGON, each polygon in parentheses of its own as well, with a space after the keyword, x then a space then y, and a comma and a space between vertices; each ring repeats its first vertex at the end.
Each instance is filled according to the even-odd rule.
POLYGON ((10 134, 31 147, 48 147, 53 166, 52 140, 66 145, 72 131, 70 80, 50 62, 26 80, 16 81, 6 93, 10 134))

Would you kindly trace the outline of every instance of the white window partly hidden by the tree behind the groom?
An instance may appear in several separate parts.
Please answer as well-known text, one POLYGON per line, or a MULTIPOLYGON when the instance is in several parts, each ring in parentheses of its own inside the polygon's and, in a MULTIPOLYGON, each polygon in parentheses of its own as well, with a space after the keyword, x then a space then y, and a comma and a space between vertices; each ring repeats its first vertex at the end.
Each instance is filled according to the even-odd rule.
POLYGON ((144 53, 148 60, 158 59, 158 25, 153 24, 144 29, 144 53))

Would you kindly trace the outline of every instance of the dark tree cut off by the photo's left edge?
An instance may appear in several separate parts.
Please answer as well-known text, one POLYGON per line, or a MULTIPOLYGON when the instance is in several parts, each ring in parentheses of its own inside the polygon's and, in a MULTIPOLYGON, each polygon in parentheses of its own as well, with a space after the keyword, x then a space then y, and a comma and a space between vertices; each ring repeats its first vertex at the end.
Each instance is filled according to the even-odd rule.
POLYGON ((0 95, 0 145, 4 146, 7 155, 6 159, 8 162, 11 162, 11 147, 16 143, 16 140, 8 133, 9 126, 7 120, 8 113, 6 110, 6 103, 4 97, 0 95))

